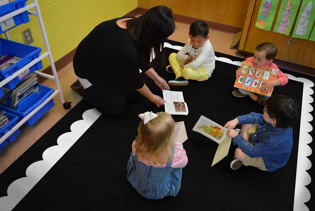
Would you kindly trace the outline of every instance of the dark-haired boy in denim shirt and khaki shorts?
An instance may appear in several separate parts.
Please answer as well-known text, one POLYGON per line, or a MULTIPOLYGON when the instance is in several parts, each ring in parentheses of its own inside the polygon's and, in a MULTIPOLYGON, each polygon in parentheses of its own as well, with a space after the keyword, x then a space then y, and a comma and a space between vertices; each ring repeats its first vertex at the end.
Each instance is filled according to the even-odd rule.
POLYGON ((264 114, 252 112, 225 124, 227 136, 238 145, 232 169, 244 164, 272 172, 287 163, 293 145, 291 125, 299 117, 300 106, 285 95, 269 97, 264 106, 264 114), (237 124, 242 125, 240 134, 233 130, 237 124))

